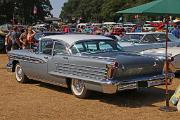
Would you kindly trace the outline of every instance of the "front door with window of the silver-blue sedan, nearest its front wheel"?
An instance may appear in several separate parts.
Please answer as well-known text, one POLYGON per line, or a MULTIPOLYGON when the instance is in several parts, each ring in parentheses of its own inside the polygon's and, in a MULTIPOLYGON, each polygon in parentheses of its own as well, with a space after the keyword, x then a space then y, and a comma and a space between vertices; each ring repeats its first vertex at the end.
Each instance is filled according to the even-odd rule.
POLYGON ((32 59, 23 63, 25 66, 25 74, 30 79, 44 80, 47 77, 48 61, 52 58, 53 40, 44 39, 40 42, 39 53, 32 53, 28 59, 32 59))

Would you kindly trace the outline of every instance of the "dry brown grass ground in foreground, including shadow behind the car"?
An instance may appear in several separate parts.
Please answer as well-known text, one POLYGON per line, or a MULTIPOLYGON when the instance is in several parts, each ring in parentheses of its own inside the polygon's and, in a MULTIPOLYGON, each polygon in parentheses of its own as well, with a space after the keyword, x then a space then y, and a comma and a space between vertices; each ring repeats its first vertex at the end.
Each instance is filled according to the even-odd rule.
MULTIPOLYGON (((114 95, 94 93, 81 100, 59 86, 19 84, 6 71, 6 63, 6 55, 0 55, 0 120, 180 120, 180 112, 158 110, 165 104, 163 86, 114 95)), ((178 84, 180 79, 174 79, 170 94, 178 84)))

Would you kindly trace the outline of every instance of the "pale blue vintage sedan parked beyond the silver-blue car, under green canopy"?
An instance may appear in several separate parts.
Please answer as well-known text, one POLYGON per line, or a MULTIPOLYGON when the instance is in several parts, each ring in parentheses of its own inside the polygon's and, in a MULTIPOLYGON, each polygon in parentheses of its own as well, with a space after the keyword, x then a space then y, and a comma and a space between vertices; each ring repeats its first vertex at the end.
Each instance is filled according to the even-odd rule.
MULTIPOLYGON (((180 40, 173 34, 168 34, 168 46, 180 46, 180 40)), ((165 48, 166 33, 164 32, 135 32, 126 33, 118 42, 125 51, 140 52, 147 49, 165 48)))

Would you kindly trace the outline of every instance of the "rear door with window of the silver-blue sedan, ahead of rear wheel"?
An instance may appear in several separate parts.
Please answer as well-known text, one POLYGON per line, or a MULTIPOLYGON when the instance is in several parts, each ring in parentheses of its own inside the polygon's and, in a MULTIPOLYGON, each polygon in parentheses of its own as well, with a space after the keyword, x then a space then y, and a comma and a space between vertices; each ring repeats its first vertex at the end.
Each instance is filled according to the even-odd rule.
POLYGON ((48 61, 48 79, 53 82, 65 84, 66 75, 70 69, 69 54, 66 46, 60 41, 54 43, 53 56, 48 61))

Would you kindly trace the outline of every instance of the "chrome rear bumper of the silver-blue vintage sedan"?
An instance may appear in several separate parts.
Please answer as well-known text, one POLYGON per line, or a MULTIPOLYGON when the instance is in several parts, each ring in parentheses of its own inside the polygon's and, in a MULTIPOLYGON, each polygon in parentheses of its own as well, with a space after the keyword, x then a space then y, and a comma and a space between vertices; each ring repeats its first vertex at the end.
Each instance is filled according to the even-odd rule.
MULTIPOLYGON (((174 78, 173 73, 168 74, 168 83, 174 78)), ((102 80, 100 82, 85 82, 87 89, 95 90, 103 93, 113 94, 117 91, 131 90, 138 88, 147 88, 165 84, 165 75, 157 75, 151 77, 134 78, 128 80, 102 80)))

